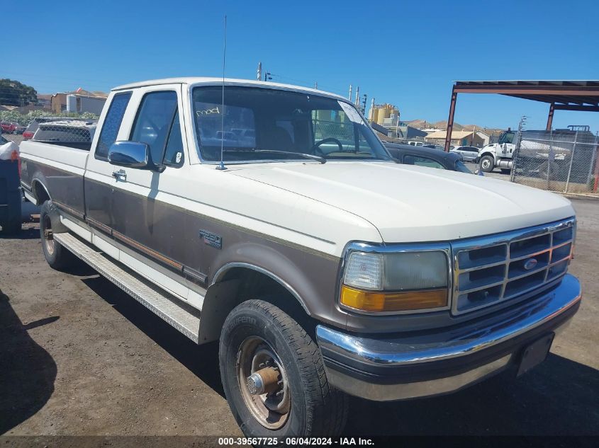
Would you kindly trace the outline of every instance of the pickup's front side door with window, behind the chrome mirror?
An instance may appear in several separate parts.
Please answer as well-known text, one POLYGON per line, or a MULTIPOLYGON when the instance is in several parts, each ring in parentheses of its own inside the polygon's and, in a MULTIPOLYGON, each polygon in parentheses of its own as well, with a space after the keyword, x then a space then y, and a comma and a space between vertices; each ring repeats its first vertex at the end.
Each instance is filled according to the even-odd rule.
MULTIPOLYGON (((128 135, 119 140, 142 142, 150 148, 159 170, 123 168, 115 171, 113 188, 113 237, 149 256, 170 270, 181 273, 183 265, 197 265, 186 238, 189 214, 179 205, 186 195, 181 179, 185 163, 182 135, 181 85, 159 85, 135 89, 131 111, 123 127, 128 135)), ((189 166, 186 166, 189 168, 189 166)))

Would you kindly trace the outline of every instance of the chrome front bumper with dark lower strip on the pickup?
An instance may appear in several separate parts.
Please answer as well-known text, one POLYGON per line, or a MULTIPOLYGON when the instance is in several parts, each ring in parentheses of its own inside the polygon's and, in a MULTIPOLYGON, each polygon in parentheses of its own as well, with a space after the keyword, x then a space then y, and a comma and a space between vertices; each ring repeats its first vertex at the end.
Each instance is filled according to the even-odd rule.
POLYGON ((328 381, 337 389, 374 401, 433 396, 517 364, 523 348, 564 328, 580 301, 581 285, 567 274, 524 304, 450 329, 389 338, 319 325, 316 338, 328 381))

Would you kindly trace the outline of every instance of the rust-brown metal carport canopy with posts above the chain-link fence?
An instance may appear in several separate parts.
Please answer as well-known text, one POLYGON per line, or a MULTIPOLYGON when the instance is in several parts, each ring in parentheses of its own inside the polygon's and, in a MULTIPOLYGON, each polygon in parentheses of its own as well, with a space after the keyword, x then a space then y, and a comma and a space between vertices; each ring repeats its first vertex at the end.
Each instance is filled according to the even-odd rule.
POLYGON ((445 151, 449 151, 458 93, 497 93, 549 104, 547 130, 554 110, 599 112, 599 81, 455 81, 449 105, 445 151))

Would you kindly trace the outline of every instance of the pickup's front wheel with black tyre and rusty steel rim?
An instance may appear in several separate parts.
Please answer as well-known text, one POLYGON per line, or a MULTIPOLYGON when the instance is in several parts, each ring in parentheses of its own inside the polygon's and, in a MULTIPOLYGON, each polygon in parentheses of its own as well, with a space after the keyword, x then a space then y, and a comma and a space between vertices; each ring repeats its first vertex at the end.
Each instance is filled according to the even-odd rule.
POLYGON ((273 304, 249 300, 225 320, 220 376, 247 437, 340 434, 347 396, 327 381, 313 338, 273 304))

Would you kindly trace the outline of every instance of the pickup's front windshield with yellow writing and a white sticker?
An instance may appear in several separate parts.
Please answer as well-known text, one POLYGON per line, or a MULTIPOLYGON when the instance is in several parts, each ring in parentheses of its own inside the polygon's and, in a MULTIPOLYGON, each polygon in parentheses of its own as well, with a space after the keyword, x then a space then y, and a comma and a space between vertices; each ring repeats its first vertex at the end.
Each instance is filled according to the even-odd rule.
POLYGON ((308 93, 226 86, 194 88, 198 146, 204 161, 388 160, 353 105, 308 93))

